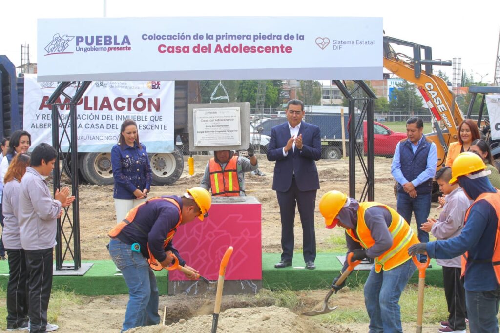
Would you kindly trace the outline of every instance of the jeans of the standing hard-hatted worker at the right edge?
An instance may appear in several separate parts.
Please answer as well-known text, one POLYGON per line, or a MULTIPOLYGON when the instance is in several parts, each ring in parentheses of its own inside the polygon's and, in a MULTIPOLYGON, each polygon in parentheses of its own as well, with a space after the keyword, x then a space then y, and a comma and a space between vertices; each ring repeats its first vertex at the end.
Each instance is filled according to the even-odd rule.
POLYGON ((491 291, 465 290, 465 304, 469 330, 471 332, 498 333, 498 303, 500 302, 500 288, 491 291))

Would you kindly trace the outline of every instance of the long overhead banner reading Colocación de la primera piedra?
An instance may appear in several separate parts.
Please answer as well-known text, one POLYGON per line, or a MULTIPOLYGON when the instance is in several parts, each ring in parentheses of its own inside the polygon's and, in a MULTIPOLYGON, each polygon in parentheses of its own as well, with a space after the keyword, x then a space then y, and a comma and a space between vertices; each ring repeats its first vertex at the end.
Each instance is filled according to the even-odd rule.
POLYGON ((38 80, 382 79, 381 17, 38 19, 38 80))

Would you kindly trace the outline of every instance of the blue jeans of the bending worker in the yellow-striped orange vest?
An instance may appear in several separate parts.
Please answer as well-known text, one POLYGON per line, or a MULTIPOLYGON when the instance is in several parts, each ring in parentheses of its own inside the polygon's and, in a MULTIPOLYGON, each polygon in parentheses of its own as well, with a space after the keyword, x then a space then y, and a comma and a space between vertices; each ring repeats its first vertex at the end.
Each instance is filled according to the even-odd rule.
POLYGON ((413 261, 389 270, 375 272, 375 265, 364 284, 364 304, 370 317, 369 333, 402 332, 399 297, 416 267, 413 261))

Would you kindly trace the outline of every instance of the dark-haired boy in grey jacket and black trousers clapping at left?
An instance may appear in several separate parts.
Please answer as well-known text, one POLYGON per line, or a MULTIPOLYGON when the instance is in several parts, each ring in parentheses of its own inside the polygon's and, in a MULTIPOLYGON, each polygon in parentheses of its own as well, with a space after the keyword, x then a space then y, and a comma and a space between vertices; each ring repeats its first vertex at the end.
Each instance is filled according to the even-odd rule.
POLYGON ((26 255, 28 271, 28 316, 30 332, 54 330, 47 327, 47 308, 52 287, 52 251, 61 207, 71 204, 74 196, 69 188, 56 190, 54 199, 45 177, 54 168, 57 152, 46 143, 38 144, 31 153, 30 166, 22 176, 19 188, 19 238, 26 255))

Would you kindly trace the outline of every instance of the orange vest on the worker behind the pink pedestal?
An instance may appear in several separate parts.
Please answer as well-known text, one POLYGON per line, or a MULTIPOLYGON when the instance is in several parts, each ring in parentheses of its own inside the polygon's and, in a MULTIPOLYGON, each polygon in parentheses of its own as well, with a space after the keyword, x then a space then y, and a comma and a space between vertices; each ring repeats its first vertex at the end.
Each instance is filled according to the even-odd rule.
POLYGON ((237 161, 238 156, 232 156, 222 171, 215 158, 210 158, 208 171, 210 173, 212 196, 239 196, 237 161))

